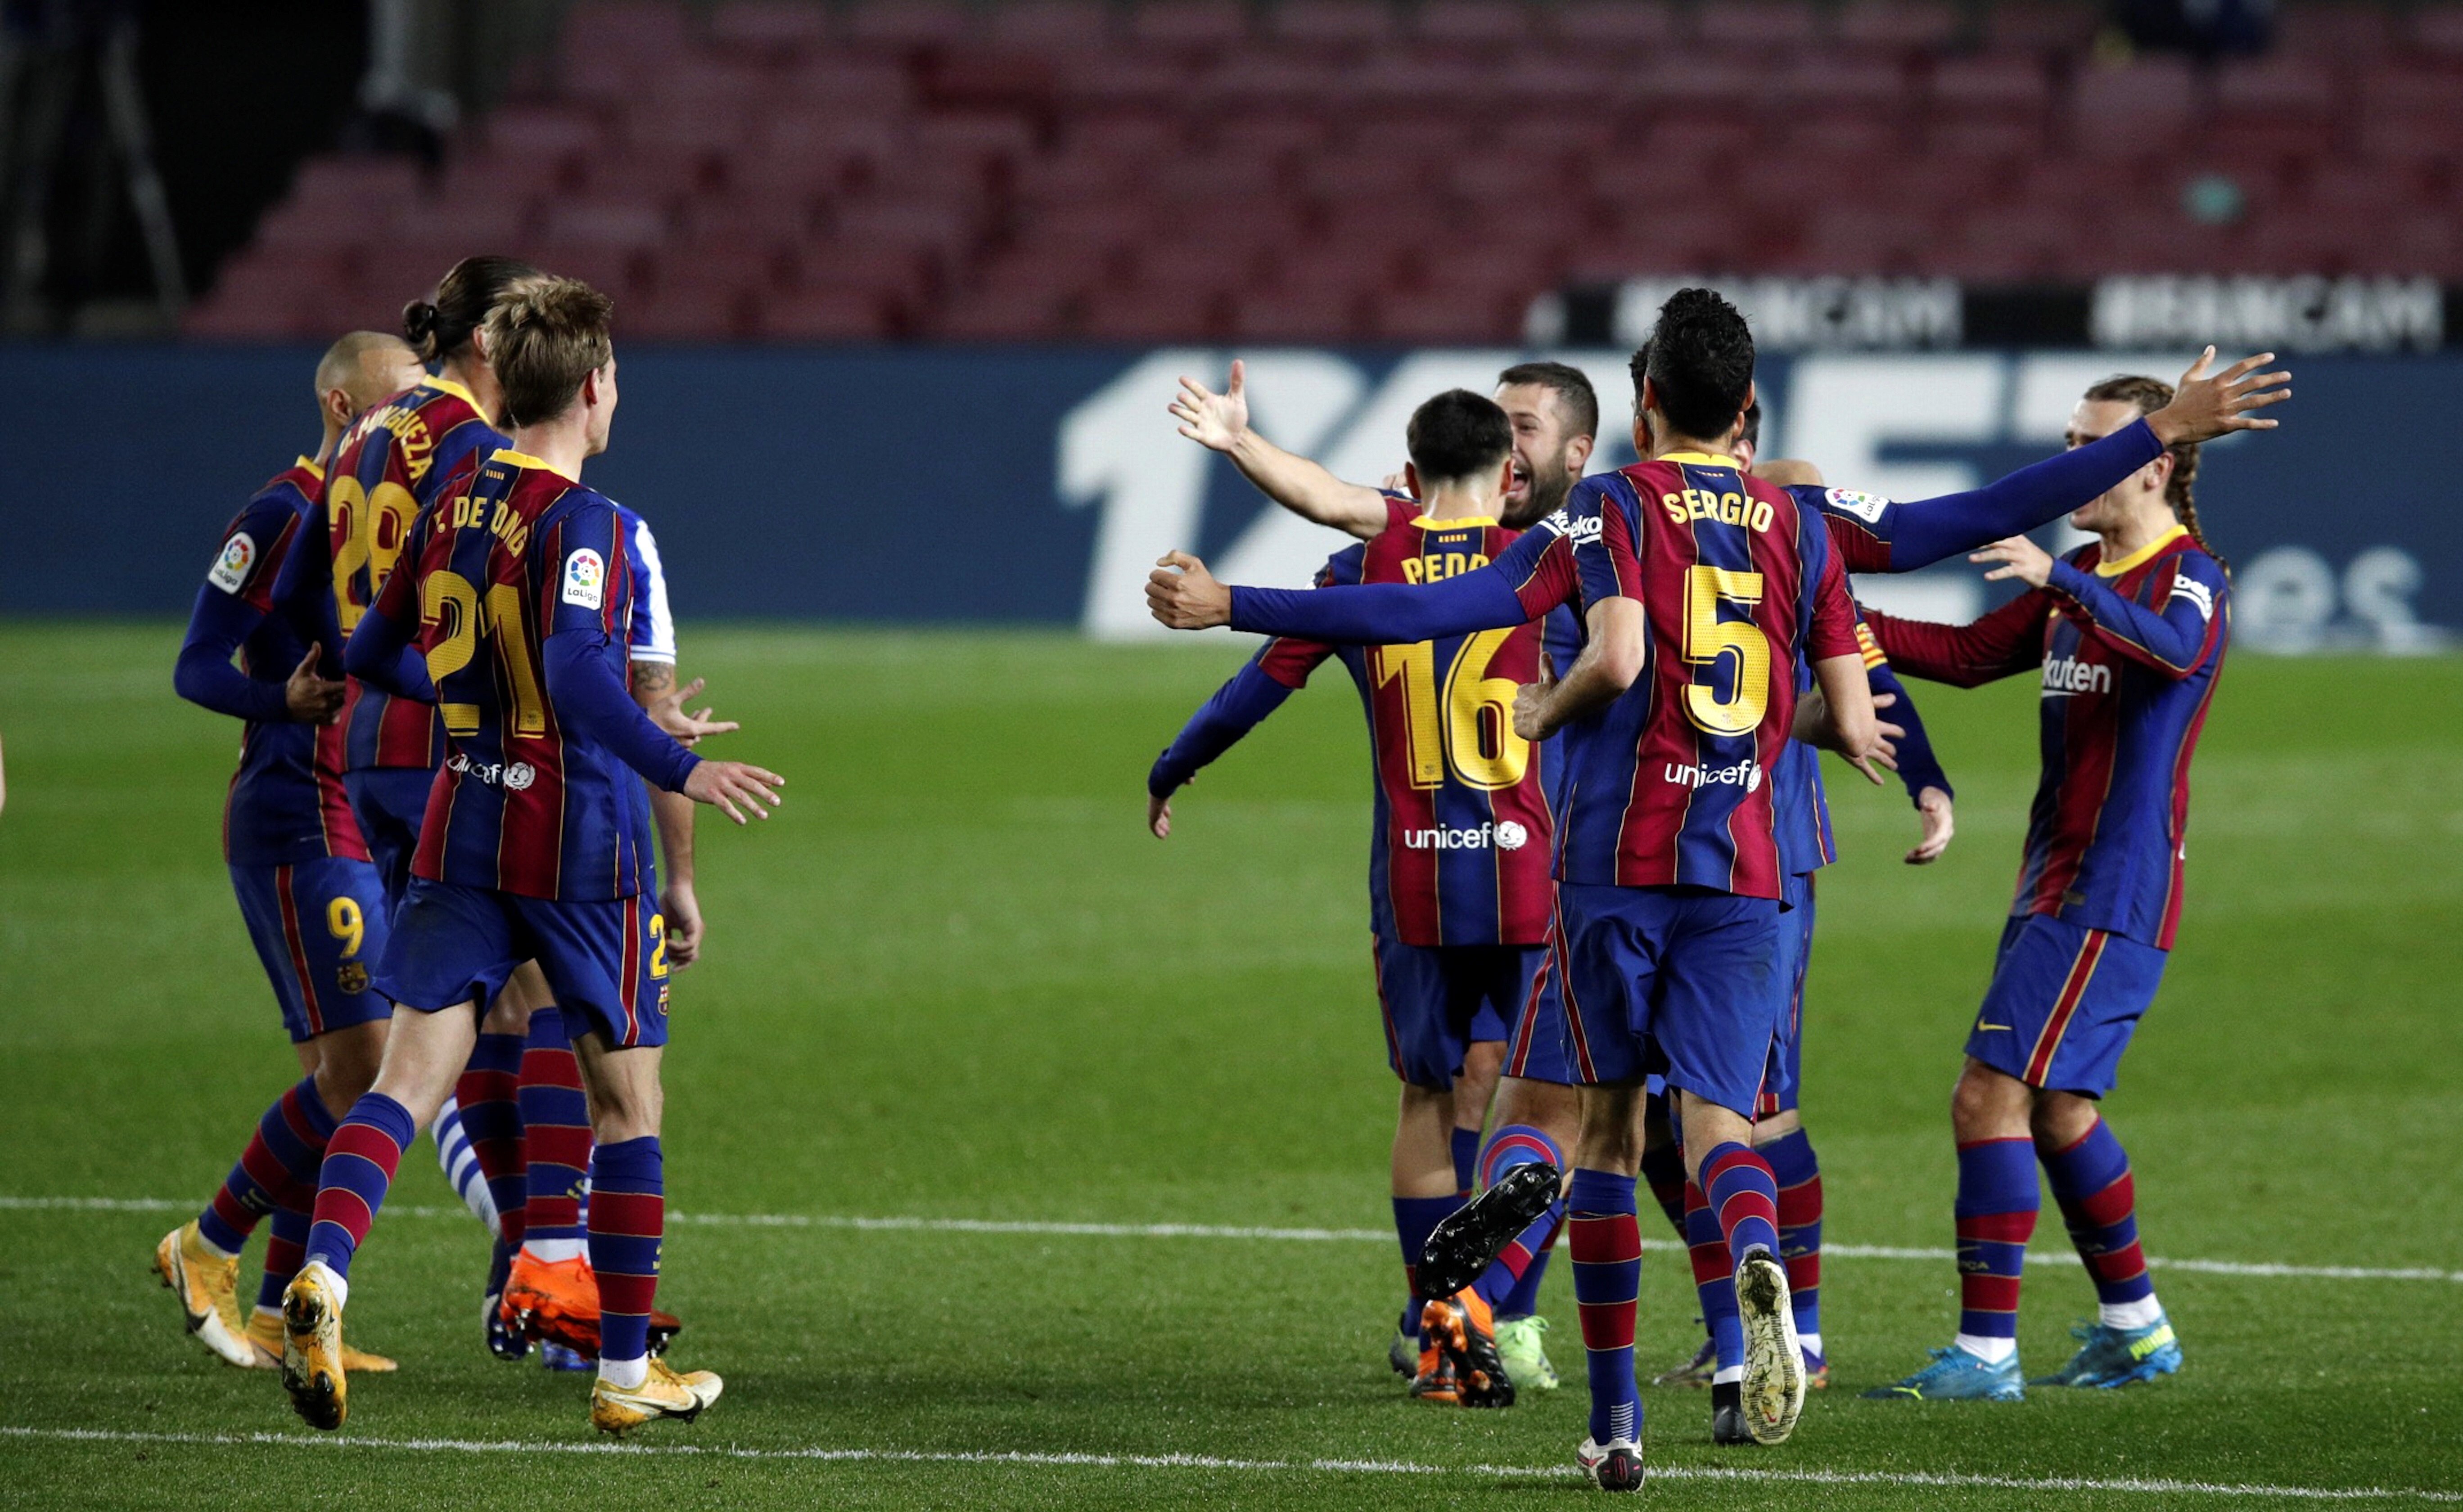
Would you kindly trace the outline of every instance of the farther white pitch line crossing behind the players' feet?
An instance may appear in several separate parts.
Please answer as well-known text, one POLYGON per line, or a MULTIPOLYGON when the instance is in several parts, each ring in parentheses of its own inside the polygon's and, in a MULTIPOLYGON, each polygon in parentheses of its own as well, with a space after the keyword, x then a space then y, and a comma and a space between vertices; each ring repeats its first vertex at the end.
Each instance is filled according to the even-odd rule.
MULTIPOLYGON (((170 1197, 0 1197, 0 1212, 195 1212, 195 1202, 170 1197)), ((463 1207, 387 1204, 387 1216, 406 1219, 463 1219, 463 1207)), ((803 1212, 680 1212, 667 1209, 667 1221, 677 1226, 712 1229, 847 1229, 857 1234, 1052 1234, 1062 1239, 1264 1239, 1276 1244, 1394 1244, 1384 1229, 1264 1229, 1244 1224, 1069 1224, 1044 1219, 924 1219, 887 1216, 867 1219, 852 1214, 803 1214, 803 1212)), ((1675 1239, 1643 1239, 1645 1251, 1680 1253, 1675 1239)), ((1894 1244, 1825 1244, 1823 1256, 1832 1261, 1956 1261, 1953 1249, 1906 1249, 1894 1244)), ((2030 1266, 2079 1266, 2076 1251, 2030 1249, 2030 1266)), ((2438 1271, 2431 1266, 2379 1268, 2379 1266, 2283 1266, 2273 1261, 2177 1261, 2148 1256, 2150 1271, 2187 1271, 2195 1276, 2261 1276, 2283 1281, 2451 1281, 2463 1283, 2463 1271, 2438 1271)))

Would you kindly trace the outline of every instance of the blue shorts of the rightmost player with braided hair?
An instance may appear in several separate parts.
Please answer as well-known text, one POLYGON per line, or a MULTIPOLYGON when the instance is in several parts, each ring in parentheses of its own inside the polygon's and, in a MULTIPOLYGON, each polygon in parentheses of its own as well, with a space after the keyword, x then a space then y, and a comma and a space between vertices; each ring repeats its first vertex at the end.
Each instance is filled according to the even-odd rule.
POLYGON ((1968 1054, 2027 1086, 2101 1098, 2121 1079, 2163 963, 2155 946, 2020 914, 2002 928, 1968 1054))

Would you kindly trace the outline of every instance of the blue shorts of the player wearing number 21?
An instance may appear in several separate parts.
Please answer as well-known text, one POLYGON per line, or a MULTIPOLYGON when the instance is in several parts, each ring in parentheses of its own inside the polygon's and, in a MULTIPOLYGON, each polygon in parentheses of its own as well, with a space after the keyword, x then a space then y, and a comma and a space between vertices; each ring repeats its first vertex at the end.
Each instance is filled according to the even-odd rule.
POLYGON ((537 960, 579 1039, 667 1044, 667 921, 653 894, 559 904, 411 877, 377 990, 419 1012, 485 1007, 537 960), (589 1015, 589 1024, 574 1019, 589 1015))

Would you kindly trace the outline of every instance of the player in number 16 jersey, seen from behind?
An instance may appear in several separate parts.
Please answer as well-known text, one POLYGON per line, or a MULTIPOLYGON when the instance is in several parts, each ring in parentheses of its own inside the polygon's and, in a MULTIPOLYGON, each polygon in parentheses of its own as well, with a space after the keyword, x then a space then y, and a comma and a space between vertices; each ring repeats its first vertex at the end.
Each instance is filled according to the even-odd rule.
MULTIPOLYGON (((1239 384, 1234 367, 1232 394, 1239 384)), ((1441 581, 1488 564, 1515 539, 1517 522, 1498 517, 1498 500, 1515 485, 1515 431, 1495 401, 1465 389, 1438 394, 1411 414, 1406 438, 1419 497, 1377 495, 1384 525, 1337 552, 1320 584, 1441 581)), ((1313 463, 1271 453, 1266 468, 1313 463)), ((1539 675, 1539 625, 1340 653, 1296 640, 1266 645, 1155 761, 1148 822, 1158 837, 1170 835, 1170 795, 1330 655, 1360 690, 1377 776, 1369 936, 1387 1061, 1404 1084, 1392 1192, 1411 1285, 1406 1325, 1421 1340, 1411 1394, 1510 1406, 1515 1379, 1498 1359, 1490 1300, 1470 1285, 1429 1295, 1416 1285, 1416 1263, 1429 1231, 1463 1199, 1448 1138, 1458 1133, 1453 1084, 1483 1024, 1502 1042, 1547 938, 1547 754, 1510 729, 1515 687, 1539 675)))

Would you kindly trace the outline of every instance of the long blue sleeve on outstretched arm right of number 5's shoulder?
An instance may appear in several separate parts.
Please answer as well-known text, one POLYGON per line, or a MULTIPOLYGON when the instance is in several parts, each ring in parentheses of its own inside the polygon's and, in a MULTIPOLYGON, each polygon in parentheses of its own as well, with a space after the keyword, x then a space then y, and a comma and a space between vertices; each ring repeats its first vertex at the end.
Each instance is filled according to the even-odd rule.
POLYGON ((1810 495, 1823 510, 1850 571, 1916 571, 2052 525, 2160 456, 2163 441, 2140 419, 1968 493, 1904 505, 1845 488, 1805 488, 1798 495, 1810 495))

